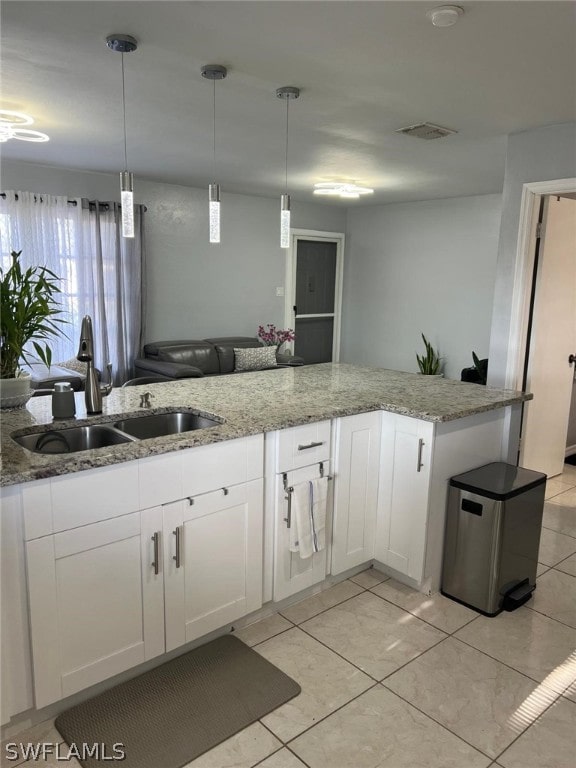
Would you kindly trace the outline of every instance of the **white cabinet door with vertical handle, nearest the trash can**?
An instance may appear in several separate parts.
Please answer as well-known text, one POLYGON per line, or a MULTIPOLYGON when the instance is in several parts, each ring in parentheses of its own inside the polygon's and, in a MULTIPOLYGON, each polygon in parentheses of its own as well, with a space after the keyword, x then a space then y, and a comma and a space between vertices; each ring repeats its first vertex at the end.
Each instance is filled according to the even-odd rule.
POLYGON ((424 572, 433 438, 431 422, 382 413, 375 558, 418 583, 424 572))

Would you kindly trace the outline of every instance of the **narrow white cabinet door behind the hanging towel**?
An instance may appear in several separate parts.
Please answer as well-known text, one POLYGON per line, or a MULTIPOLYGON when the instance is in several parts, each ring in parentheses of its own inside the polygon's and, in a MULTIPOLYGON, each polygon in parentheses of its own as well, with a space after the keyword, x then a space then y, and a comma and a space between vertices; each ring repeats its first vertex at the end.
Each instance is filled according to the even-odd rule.
MULTIPOLYGON (((286 475, 288 486, 313 480, 318 477, 319 467, 294 470, 286 475)), ((330 472, 330 462, 324 462, 324 471, 330 472)), ((329 530, 329 518, 332 508, 332 492, 328 485, 328 510, 326 525, 329 530)), ((326 550, 315 552, 304 560, 297 552, 290 552, 290 516, 288 514, 288 495, 284 490, 282 475, 276 476, 276 496, 274 504, 274 586, 273 599, 275 602, 285 597, 295 595, 313 584, 319 584, 326 578, 326 550)))

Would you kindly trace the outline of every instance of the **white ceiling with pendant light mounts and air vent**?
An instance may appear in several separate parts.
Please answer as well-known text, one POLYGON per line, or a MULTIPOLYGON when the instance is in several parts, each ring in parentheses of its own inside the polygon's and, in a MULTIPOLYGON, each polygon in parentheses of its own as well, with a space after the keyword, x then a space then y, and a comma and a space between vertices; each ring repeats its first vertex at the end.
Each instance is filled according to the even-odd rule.
POLYGON ((301 88, 290 102, 293 198, 312 200, 330 180, 375 188, 354 205, 498 192, 506 134, 576 119, 576 4, 462 0, 458 24, 437 28, 426 11, 441 4, 3 0, 1 107, 31 114, 51 140, 10 141, 2 156, 122 170, 121 56, 105 38, 126 33, 139 41, 124 57, 137 177, 214 180, 213 86, 200 69, 218 63, 223 194, 283 191, 284 85, 301 88), (394 132, 421 121, 458 134, 394 132))

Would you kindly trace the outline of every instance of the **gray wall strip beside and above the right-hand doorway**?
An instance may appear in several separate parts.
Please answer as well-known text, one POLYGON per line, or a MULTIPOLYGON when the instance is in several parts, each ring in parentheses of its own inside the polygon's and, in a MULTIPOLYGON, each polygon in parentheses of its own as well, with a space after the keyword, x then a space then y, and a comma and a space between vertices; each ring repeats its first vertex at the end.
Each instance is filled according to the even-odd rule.
POLYGON ((505 386, 512 291, 523 185, 576 176, 576 123, 563 123, 508 137, 502 194, 488 381, 505 386))

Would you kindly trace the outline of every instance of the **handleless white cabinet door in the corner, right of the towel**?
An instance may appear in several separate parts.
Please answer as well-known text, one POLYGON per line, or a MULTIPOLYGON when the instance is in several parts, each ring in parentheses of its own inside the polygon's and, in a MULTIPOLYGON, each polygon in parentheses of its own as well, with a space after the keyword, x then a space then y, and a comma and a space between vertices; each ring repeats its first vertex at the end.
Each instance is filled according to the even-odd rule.
POLYGON ((379 411, 336 421, 333 574, 374 558, 380 421, 379 411))

